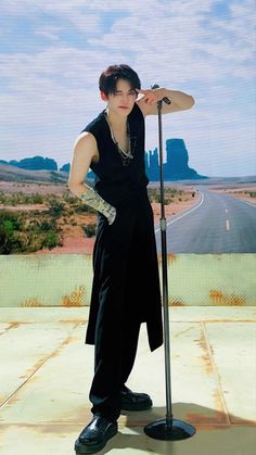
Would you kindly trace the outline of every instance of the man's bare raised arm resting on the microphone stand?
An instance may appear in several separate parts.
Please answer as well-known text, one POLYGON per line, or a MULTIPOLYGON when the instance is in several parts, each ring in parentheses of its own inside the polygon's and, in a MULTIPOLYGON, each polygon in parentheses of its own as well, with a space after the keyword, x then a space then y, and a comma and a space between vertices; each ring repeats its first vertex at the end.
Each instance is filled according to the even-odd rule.
POLYGON ((193 97, 178 90, 156 88, 150 90, 137 89, 137 91, 143 94, 143 97, 139 101, 137 101, 137 104, 140 106, 144 116, 157 115, 157 101, 163 100, 163 98, 168 98, 170 100, 170 104, 166 104, 165 102, 163 102, 163 114, 169 114, 171 112, 177 111, 184 111, 191 109, 194 104, 193 97))

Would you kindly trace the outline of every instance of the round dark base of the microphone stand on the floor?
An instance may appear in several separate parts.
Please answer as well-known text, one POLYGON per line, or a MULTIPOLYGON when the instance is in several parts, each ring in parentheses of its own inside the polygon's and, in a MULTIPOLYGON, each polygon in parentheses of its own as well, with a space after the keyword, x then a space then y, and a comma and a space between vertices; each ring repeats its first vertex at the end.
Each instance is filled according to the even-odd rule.
POLYGON ((195 428, 182 420, 159 419, 144 427, 148 437, 161 441, 181 441, 195 434, 195 428))

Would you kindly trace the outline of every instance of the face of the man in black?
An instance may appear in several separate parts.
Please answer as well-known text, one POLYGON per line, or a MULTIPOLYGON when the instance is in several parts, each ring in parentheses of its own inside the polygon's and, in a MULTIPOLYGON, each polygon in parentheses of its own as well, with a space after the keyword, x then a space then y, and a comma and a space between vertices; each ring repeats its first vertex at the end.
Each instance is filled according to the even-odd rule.
POLYGON ((115 93, 107 96, 107 108, 118 115, 127 116, 135 105, 137 96, 137 91, 131 88, 128 80, 118 79, 115 93))

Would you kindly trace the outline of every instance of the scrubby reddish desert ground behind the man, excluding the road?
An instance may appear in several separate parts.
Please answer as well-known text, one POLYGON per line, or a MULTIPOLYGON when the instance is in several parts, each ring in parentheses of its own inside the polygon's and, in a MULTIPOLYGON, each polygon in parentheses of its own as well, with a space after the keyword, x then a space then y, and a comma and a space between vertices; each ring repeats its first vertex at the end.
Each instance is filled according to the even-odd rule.
MULTIPOLYGON (((196 205, 202 186, 251 204, 256 202, 254 178, 165 182, 166 218, 196 205)), ((150 184, 148 192, 157 227, 159 184, 150 184)), ((71 193, 67 177, 63 182, 52 182, 47 181, 44 173, 42 181, 29 181, 26 176, 21 181, 0 181, 0 254, 91 254, 95 228, 95 211, 71 193)))

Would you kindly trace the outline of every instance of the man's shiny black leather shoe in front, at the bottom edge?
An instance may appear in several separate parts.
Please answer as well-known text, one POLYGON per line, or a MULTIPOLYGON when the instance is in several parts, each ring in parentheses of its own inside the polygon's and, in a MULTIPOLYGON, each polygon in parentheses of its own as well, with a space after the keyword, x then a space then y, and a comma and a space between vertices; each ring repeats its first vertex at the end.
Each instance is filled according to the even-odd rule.
POLYGON ((77 454, 94 454, 100 452, 108 441, 117 433, 117 422, 107 420, 105 417, 95 415, 81 431, 75 442, 77 454))

